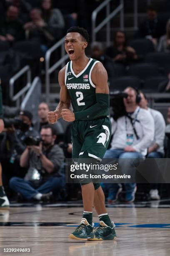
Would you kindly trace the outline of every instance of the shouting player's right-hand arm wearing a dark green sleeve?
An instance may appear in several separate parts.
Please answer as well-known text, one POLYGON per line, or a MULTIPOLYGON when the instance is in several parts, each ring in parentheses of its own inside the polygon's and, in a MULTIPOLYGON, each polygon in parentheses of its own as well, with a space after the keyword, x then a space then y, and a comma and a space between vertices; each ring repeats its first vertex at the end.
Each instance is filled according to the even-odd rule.
POLYGON ((94 120, 109 115, 107 72, 101 63, 92 69, 91 79, 96 87, 96 103, 86 110, 75 112, 75 120, 94 120))

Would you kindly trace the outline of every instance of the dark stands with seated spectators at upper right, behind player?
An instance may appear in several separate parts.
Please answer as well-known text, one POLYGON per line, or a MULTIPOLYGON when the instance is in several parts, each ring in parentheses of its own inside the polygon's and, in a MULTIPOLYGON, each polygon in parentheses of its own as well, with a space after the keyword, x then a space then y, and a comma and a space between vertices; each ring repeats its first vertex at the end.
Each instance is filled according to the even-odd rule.
POLYGON ((90 49, 107 70, 110 90, 131 84, 144 92, 168 92, 170 19, 161 20, 152 6, 132 40, 116 31, 109 47, 93 42, 90 49))

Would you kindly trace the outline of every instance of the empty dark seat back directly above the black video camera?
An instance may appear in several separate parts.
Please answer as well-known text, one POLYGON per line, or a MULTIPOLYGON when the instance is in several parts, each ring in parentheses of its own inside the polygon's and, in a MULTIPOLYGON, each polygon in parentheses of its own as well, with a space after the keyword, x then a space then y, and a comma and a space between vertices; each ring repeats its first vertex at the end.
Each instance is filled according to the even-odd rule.
POLYGON ((113 80, 112 84, 110 84, 110 91, 114 90, 124 90, 128 86, 133 86, 140 88, 140 80, 138 77, 117 77, 113 80))

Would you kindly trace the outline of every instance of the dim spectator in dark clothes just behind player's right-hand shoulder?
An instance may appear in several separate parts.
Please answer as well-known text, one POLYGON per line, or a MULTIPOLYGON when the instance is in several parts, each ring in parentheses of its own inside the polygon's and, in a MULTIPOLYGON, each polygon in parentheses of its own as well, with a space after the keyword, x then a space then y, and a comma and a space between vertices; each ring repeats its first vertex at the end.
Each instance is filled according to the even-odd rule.
POLYGON ((91 54, 93 59, 97 59, 102 62, 103 66, 107 70, 108 80, 112 80, 115 77, 114 62, 108 56, 104 54, 103 46, 100 42, 94 42, 90 45, 91 54))

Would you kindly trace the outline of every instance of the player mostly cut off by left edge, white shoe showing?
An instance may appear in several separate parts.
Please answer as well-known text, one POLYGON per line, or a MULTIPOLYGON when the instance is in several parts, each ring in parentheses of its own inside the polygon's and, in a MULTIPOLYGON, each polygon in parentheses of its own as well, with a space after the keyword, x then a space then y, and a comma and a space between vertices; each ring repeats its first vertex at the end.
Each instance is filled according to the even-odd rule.
MULTIPOLYGON (((0 86, 0 133, 2 133, 4 129, 4 122, 3 122, 3 111, 2 111, 2 90, 0 86)), ((7 199, 5 194, 3 185, 2 185, 2 166, 0 164, 0 207, 9 207, 10 203, 7 199)))

